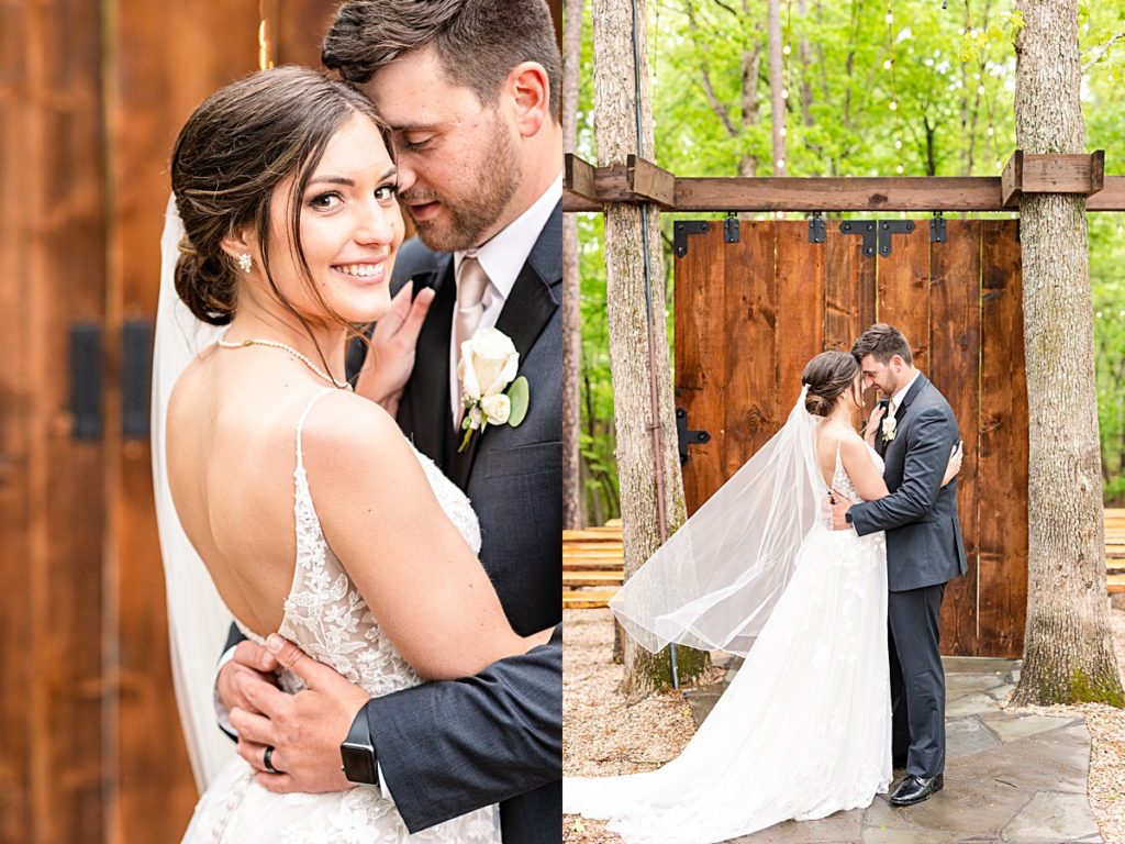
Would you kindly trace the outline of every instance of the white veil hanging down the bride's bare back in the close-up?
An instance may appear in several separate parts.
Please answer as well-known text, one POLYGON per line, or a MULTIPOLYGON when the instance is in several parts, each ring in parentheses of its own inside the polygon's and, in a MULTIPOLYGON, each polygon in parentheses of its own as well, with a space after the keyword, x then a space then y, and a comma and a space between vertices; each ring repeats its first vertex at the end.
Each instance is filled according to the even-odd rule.
POLYGON ((152 476, 156 524, 168 590, 172 679, 183 737, 196 784, 202 792, 234 754, 234 744, 215 719, 215 666, 231 626, 231 612, 218 596, 204 562, 183 532, 172 503, 165 455, 168 399, 183 369, 213 343, 220 327, 206 325, 176 295, 176 261, 183 224, 170 198, 161 237, 160 304, 152 371, 152 476))

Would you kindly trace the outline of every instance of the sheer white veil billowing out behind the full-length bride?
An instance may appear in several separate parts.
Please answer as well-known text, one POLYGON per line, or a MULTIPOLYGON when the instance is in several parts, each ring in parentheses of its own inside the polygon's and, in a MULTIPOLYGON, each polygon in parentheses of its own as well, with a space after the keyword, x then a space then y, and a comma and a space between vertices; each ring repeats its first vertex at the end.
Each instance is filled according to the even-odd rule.
POLYGON ((610 601, 641 646, 669 643, 745 655, 824 521, 818 417, 808 387, 784 427, 712 495, 610 601))

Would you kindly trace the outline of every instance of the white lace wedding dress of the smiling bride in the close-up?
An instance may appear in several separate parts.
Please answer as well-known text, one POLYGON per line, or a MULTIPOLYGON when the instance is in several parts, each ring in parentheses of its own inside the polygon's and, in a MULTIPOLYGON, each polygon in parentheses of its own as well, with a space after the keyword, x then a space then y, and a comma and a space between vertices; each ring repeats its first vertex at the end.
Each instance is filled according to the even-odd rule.
MULTIPOLYGON (((356 584, 328 548, 308 491, 302 455, 302 429, 313 403, 333 392, 317 394, 297 423, 295 514, 297 565, 285 602, 278 632, 309 656, 331 665, 371 694, 389 694, 417 685, 422 679, 398 655, 376 623, 356 584)), ((413 447, 412 447, 413 448, 413 447)), ((474 551, 480 550, 480 527, 469 500, 433 463, 418 461, 446 515, 474 551)), ((261 641, 240 625, 251 638, 261 641)), ((298 691, 303 683, 285 672, 281 688, 298 691)), ((358 787, 327 794, 276 794, 253 779, 254 770, 241 757, 226 764, 196 806, 184 834, 186 844, 390 844, 392 842, 457 842, 498 844, 500 817, 495 806, 462 815, 414 836, 392 801, 378 788, 358 787)))

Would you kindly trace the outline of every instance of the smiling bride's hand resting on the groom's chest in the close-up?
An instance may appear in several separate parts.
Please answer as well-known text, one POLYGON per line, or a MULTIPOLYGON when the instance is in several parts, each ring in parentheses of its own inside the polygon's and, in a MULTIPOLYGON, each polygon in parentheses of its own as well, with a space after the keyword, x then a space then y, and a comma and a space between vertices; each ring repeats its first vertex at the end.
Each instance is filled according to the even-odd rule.
POLYGON ((356 393, 382 406, 392 416, 398 411, 403 387, 414 370, 414 350, 434 291, 424 287, 411 299, 414 282, 407 281, 390 300, 390 309, 371 335, 371 349, 356 383, 356 393))

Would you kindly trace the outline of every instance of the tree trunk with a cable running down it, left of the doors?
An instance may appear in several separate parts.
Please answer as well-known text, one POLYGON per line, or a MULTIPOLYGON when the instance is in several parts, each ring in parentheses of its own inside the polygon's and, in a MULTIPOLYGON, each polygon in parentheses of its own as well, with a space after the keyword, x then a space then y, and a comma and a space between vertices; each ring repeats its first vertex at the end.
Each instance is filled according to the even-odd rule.
MULTIPOLYGON (((594 132, 598 164, 602 167, 623 164, 629 153, 639 153, 642 158, 652 155, 645 0, 633 2, 593 0, 594 132), (633 8, 637 9, 638 21, 639 72, 633 59, 633 8), (640 138, 637 137, 636 118, 638 88, 640 138)), ((664 257, 657 212, 646 206, 608 206, 606 315, 627 578, 660 546, 664 539, 662 511, 669 536, 685 517, 672 404, 668 336, 662 306, 663 279, 664 257), (647 215, 647 242, 642 235, 642 215, 647 215), (663 496, 658 495, 660 487, 663 496)), ((693 676, 708 664, 706 655, 700 652, 680 648, 678 656, 681 677, 693 676)), ((627 640, 622 691, 631 699, 639 699, 667 685, 670 680, 668 663, 667 650, 654 655, 627 640)))

